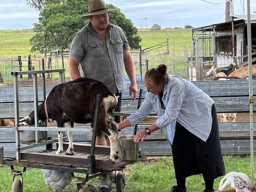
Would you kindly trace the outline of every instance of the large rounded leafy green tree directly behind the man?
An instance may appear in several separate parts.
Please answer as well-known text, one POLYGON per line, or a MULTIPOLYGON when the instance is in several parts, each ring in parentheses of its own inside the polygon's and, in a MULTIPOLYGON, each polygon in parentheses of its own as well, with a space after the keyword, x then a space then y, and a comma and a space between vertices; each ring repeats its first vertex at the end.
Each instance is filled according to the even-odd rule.
MULTIPOLYGON (((47 4, 40 13, 39 22, 34 24, 37 34, 30 39, 32 52, 43 52, 44 48, 50 50, 60 46, 63 46, 64 51, 68 51, 74 34, 88 24, 89 20, 82 20, 81 16, 88 12, 90 0, 58 2, 61 3, 47 4)), ((112 4, 106 6, 115 8, 112 4)), ((139 48, 141 38, 137 34, 137 28, 130 19, 125 18, 119 8, 109 14, 109 22, 122 28, 131 48, 139 48)))

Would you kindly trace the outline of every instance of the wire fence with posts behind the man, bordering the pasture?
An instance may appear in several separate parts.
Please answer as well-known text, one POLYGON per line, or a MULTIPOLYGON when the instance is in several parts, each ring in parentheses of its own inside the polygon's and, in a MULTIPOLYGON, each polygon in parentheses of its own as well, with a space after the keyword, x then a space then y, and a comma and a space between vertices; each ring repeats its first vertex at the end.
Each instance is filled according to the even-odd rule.
MULTIPOLYGON (((188 62, 186 52, 191 52, 192 42, 183 42, 183 47, 175 52, 169 51, 169 41, 146 49, 130 50, 134 60, 137 82, 143 82, 145 72, 150 68, 156 68, 159 64, 165 64, 168 69, 168 74, 178 74, 183 78, 188 79, 188 62), (190 44, 190 45, 188 45, 190 44), (166 47, 166 51, 160 52, 160 47, 166 47)), ((179 45, 180 46, 180 45, 179 45)), ((173 46, 175 48, 175 46, 173 46)), ((162 49, 161 49, 162 50, 162 49)), ((29 56, 18 56, 13 58, 0 58, 0 82, 12 84, 13 76, 11 72, 26 71, 26 70, 42 70, 42 60, 44 60, 45 69, 60 69, 64 68, 64 80, 71 80, 68 69, 68 53, 50 52, 48 54, 33 54, 29 56)), ((125 76, 128 75, 125 72, 125 76)), ((23 75, 19 80, 30 82, 31 75, 23 75)), ((38 76, 40 78, 40 75, 38 76)), ((48 80, 58 80, 57 74, 48 74, 48 80)), ((128 78, 126 78, 128 79, 128 78)), ((127 83, 129 80, 127 80, 127 83)))

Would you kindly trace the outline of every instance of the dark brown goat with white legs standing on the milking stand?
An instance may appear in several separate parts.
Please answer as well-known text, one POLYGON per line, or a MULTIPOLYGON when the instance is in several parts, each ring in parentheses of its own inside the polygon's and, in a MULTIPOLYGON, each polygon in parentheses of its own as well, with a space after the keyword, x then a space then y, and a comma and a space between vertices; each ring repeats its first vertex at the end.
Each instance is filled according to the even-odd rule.
MULTIPOLYGON (((117 129, 112 123, 112 129, 108 126, 111 117, 114 117, 118 97, 116 97, 102 82, 90 79, 79 78, 55 86, 48 98, 38 107, 39 122, 42 124, 46 119, 56 120, 58 127, 68 123, 68 127, 74 127, 74 122, 85 124, 93 122, 96 96, 101 95, 98 127, 107 134, 110 140, 110 159, 115 162, 118 158, 117 129)), ((20 120, 28 125, 34 125, 34 111, 20 120)), ((56 154, 63 152, 62 132, 58 132, 58 150, 56 154)), ((66 154, 74 154, 72 132, 68 132, 68 149, 66 154)))

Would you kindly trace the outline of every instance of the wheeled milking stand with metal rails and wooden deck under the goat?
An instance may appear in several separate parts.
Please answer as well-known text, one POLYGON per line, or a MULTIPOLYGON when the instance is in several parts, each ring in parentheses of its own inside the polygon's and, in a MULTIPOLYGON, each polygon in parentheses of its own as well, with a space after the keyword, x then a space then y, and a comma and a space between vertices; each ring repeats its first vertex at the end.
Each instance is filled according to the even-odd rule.
MULTIPOLYGON (((38 70, 38 71, 24 71, 24 72, 13 72, 14 76, 14 106, 15 106, 15 139, 16 139, 16 156, 12 158, 4 158, 4 148, 0 147, 0 164, 10 166, 11 173, 13 174, 13 184, 12 192, 22 192, 23 186, 25 184, 22 174, 30 168, 40 168, 56 171, 71 172, 73 178, 77 178, 77 190, 78 192, 97 192, 97 189, 87 184, 87 181, 101 176, 103 174, 118 171, 115 176, 116 179, 116 191, 124 192, 125 179, 123 169, 126 165, 132 164, 143 159, 146 156, 142 150, 138 150, 138 157, 132 160, 116 160, 113 163, 110 158, 110 147, 108 146, 95 146, 96 141, 96 127, 98 125, 98 110, 100 105, 100 95, 97 96, 95 114, 94 114, 94 132, 92 133, 91 144, 81 144, 74 143, 74 148, 76 152, 72 156, 65 154, 55 154, 56 149, 54 149, 53 144, 58 142, 58 139, 49 138, 47 135, 48 131, 74 131, 74 132, 91 132, 91 128, 79 126, 74 127, 72 130, 67 127, 57 128, 57 127, 44 127, 38 124, 38 84, 37 84, 37 74, 42 74, 42 79, 44 80, 45 74, 47 73, 59 73, 60 83, 63 82, 63 72, 64 69, 56 70, 38 70), (19 126, 19 92, 18 92, 18 76, 20 75, 32 75, 33 77, 33 92, 34 92, 34 112, 35 112, 35 125, 34 126, 19 126), (22 134, 23 132, 23 134, 22 134), (32 135, 30 134, 32 132, 32 135), (27 145, 21 146, 24 136, 30 139, 27 145), (27 135, 34 136, 34 139, 28 138, 27 135), (44 150, 30 151, 33 148, 38 148, 44 146, 44 150), (23 167, 21 170, 14 169, 14 166, 23 167), (82 173, 86 176, 76 177, 74 173, 82 173), (20 179, 16 179, 16 176, 20 176, 20 179)), ((44 88, 44 100, 46 98, 45 84, 43 82, 44 88)), ((67 137, 64 137, 66 140, 67 137)), ((23 141, 24 142, 24 141, 23 141)), ((64 150, 68 147, 68 144, 64 142, 64 150)))

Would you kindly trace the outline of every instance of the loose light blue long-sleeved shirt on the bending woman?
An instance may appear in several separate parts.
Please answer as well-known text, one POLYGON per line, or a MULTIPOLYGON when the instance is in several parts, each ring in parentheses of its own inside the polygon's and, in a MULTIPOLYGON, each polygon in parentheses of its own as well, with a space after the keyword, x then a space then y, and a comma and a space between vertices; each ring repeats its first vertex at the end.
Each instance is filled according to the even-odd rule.
POLYGON ((206 93, 190 81, 174 75, 164 85, 162 101, 165 111, 161 108, 159 95, 148 92, 140 108, 127 119, 133 126, 155 110, 159 116, 156 126, 164 128, 170 144, 174 138, 175 120, 198 138, 207 140, 212 128, 214 101, 206 93))

